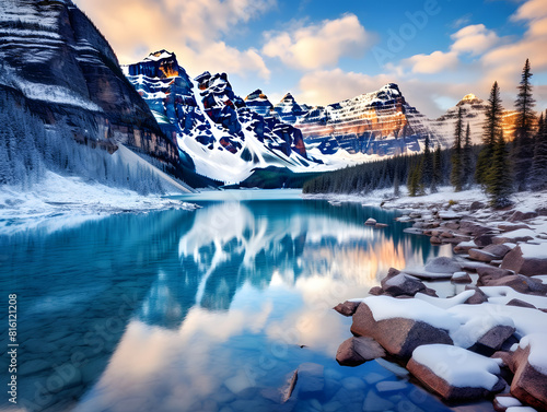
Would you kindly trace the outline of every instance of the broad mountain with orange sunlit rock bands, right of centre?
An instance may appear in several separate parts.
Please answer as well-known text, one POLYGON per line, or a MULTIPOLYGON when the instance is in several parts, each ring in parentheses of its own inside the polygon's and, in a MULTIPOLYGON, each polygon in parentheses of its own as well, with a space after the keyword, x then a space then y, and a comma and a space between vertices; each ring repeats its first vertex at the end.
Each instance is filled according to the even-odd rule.
POLYGON ((397 84, 328 106, 316 106, 294 125, 323 154, 353 155, 419 152, 426 136, 438 142, 429 120, 410 106, 397 84))

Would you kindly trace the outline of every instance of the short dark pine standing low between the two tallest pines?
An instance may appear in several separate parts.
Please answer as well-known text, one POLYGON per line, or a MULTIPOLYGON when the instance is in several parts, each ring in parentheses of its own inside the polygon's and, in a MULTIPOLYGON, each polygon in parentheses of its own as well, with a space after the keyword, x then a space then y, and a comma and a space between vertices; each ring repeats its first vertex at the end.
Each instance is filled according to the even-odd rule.
POLYGON ((509 155, 503 132, 500 132, 493 146, 491 166, 486 176, 486 192, 492 208, 505 208, 511 204, 512 178, 509 155))

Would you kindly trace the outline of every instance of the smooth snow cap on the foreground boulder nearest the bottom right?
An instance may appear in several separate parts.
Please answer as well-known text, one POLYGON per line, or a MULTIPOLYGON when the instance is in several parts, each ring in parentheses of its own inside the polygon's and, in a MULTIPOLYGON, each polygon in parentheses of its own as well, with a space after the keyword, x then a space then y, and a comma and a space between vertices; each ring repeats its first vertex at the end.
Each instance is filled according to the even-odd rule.
POLYGON ((501 360, 492 360, 462 348, 428 344, 415 349, 412 358, 456 388, 492 390, 501 360))

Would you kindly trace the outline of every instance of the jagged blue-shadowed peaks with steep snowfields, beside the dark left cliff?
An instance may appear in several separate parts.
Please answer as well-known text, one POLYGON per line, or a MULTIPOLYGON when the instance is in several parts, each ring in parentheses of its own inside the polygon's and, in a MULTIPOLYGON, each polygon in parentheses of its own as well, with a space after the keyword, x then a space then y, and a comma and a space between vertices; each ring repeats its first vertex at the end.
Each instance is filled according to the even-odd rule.
MULTIPOLYGON (((306 172, 321 164, 307 156, 299 129, 249 109, 225 73, 205 72, 193 80, 165 50, 124 71, 198 174, 240 183, 255 168, 306 172)), ((253 101, 267 107, 267 98, 256 94, 253 101)))

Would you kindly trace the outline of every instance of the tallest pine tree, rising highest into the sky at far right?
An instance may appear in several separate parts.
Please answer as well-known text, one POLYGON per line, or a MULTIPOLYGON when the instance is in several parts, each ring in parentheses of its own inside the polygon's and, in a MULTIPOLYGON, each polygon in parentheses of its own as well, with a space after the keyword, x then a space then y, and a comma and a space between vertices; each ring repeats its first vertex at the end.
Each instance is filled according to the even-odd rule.
POLYGON ((526 59, 522 69, 521 83, 519 84, 519 94, 516 95, 516 128, 513 140, 513 164, 517 191, 526 190, 526 183, 529 175, 532 157, 534 155, 534 142, 532 140, 532 130, 535 122, 535 106, 532 97, 532 84, 529 79, 529 61, 526 59))

